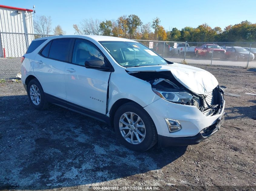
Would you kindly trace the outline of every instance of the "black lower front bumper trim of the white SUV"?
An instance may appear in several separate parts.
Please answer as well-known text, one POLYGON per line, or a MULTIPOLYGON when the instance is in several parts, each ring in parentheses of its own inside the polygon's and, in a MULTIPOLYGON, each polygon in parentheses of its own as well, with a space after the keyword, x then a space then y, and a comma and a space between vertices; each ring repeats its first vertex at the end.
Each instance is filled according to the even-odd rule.
POLYGON ((210 137, 216 133, 224 121, 224 113, 219 117, 218 121, 213 125, 205 128, 197 135, 189 137, 166 137, 163 135, 158 135, 158 145, 159 147, 170 147, 170 146, 185 146, 185 145, 196 145, 206 138, 210 137))

